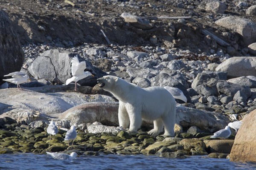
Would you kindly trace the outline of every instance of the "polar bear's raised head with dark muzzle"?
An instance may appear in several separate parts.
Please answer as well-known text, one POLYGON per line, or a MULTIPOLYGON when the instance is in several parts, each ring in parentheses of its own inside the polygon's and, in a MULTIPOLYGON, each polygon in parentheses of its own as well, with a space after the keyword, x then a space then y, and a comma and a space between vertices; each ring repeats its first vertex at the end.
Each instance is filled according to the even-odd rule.
POLYGON ((116 76, 104 76, 102 78, 97 79, 97 82, 99 83, 100 88, 106 91, 111 91, 113 90, 113 86, 116 85, 117 80, 118 77, 116 76))

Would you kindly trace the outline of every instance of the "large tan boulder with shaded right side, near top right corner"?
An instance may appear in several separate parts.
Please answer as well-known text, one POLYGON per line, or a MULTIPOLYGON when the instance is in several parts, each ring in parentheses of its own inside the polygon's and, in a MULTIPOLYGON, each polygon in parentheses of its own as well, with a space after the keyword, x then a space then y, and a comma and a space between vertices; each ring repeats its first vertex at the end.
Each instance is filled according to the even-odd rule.
POLYGON ((246 45, 256 41, 256 24, 251 20, 230 16, 215 21, 215 24, 240 34, 246 45))

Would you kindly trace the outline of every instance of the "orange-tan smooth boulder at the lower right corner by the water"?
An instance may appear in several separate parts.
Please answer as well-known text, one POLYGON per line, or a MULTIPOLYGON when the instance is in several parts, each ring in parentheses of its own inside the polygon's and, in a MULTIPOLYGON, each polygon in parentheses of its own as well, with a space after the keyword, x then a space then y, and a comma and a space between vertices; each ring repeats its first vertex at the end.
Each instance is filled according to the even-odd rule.
POLYGON ((244 117, 236 134, 230 161, 256 162, 256 110, 244 117))

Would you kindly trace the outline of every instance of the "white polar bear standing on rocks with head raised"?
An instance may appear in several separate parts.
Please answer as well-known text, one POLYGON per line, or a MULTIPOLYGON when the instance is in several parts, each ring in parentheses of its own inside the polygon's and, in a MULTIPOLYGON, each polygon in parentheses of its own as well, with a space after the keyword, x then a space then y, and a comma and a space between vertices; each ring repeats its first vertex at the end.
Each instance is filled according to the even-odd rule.
POLYGON ((119 126, 136 133, 142 119, 154 121, 154 129, 148 131, 157 136, 165 127, 164 136, 174 136, 176 102, 174 97, 162 87, 140 88, 115 76, 97 79, 99 87, 109 91, 119 100, 119 126))

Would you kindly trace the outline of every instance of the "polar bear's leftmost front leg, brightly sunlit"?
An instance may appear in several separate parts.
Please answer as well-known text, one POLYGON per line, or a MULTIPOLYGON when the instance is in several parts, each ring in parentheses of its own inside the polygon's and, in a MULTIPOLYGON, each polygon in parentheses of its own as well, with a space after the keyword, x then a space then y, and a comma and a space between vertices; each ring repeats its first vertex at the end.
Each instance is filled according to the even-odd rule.
POLYGON ((122 102, 119 102, 118 122, 119 122, 119 126, 122 126, 124 129, 128 128, 130 123, 129 115, 127 113, 127 108, 122 102))

